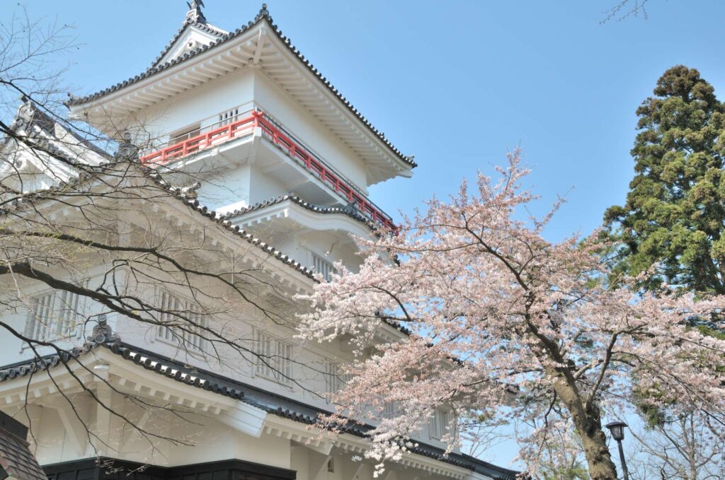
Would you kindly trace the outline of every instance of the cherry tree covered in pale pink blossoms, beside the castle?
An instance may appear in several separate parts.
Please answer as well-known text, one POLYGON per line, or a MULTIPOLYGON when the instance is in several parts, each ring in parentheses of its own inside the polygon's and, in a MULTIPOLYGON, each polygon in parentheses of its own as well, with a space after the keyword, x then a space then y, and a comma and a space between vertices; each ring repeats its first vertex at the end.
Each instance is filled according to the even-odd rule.
POLYGON ((299 335, 347 337, 358 358, 322 424, 344 431, 349 418, 373 420, 367 455, 379 472, 436 409, 452 413, 449 449, 461 426, 470 435, 477 418, 498 414, 533 426, 518 438, 527 473, 544 473, 542 458, 566 467, 583 455, 592 480, 617 479, 608 412, 634 414, 646 399, 725 425, 725 342, 690 327, 697 316, 722 327, 725 299, 641 292, 635 279, 610 285, 606 245, 597 235, 545 240, 558 205, 526 216, 537 199, 522 186, 529 171, 518 151, 508 160, 498 180, 479 174, 475 189, 464 182, 449 201, 428 201, 394 235, 358 240, 360 270, 338 265, 308 297, 299 335), (381 321, 405 340, 374 341, 381 321), (384 418, 389 402, 398 414, 384 418))

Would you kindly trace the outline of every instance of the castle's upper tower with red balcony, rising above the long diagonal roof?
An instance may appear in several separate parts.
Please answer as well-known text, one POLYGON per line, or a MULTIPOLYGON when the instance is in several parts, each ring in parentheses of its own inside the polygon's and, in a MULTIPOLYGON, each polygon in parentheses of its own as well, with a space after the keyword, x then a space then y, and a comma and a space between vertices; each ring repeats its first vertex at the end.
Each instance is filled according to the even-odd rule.
POLYGON ((354 269, 349 233, 394 229, 368 187, 410 177, 415 162, 294 48, 266 6, 227 32, 201 5, 146 72, 72 98, 72 116, 111 136, 127 126, 144 143, 141 163, 193 172, 202 203, 302 264, 354 269))

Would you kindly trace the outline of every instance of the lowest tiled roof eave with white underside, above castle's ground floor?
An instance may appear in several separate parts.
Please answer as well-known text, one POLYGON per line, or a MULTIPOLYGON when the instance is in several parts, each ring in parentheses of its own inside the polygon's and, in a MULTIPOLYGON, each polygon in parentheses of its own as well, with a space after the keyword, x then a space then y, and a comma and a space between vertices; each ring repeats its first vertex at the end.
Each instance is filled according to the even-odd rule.
MULTIPOLYGON (((117 376, 117 381, 113 383, 117 382, 120 391, 129 392, 130 395, 144 392, 149 398, 165 402, 173 400, 187 408, 198 408, 220 416, 225 423, 254 437, 262 433, 283 435, 305 444, 318 442, 320 446, 318 433, 307 426, 316 424, 320 414, 329 413, 213 371, 190 368, 186 362, 175 361, 118 340, 86 344, 75 358, 67 358, 67 367, 59 359, 55 359, 52 366, 49 361, 42 362, 47 365, 43 366, 43 370, 58 368, 67 371, 54 374, 51 381, 49 376, 36 369, 38 361, 13 366, 12 376, 7 374, 11 369, 0 367, 0 400, 4 401, 6 408, 12 405, 22 408, 28 401, 42 401, 43 397, 58 392, 58 388, 66 395, 80 392, 83 387, 79 380, 88 384, 97 383, 97 374, 91 373, 95 371, 92 366, 101 363, 111 365, 108 373, 117 376), (74 376, 70 375, 70 371, 75 372, 74 376)), ((371 429, 369 425, 351 424, 344 434, 330 437, 325 442, 349 452, 364 452, 368 442, 365 437, 371 429)), ((444 450, 423 443, 411 448, 410 454, 405 455, 401 462, 405 466, 454 479, 463 479, 465 471, 504 480, 513 480, 518 473, 468 455, 444 455, 444 450)))

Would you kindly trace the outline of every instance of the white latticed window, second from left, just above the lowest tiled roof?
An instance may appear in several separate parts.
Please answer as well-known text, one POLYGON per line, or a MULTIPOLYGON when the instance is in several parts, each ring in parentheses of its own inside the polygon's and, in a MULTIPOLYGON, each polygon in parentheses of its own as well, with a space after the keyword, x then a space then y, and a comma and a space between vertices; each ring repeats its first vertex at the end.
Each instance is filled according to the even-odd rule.
POLYGON ((207 327, 207 319, 194 302, 169 292, 160 292, 159 310, 159 325, 156 327, 158 340, 170 343, 183 340, 183 345, 190 350, 204 350, 206 340, 202 335, 207 327))

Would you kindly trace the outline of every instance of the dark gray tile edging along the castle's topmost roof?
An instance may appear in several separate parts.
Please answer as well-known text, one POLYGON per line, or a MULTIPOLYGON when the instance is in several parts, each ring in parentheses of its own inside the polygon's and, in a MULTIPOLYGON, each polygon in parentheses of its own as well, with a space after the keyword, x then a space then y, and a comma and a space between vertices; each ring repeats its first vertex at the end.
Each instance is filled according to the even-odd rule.
MULTIPOLYGON (((238 28, 238 29, 234 30, 233 32, 226 33, 224 35, 220 35, 219 38, 217 39, 217 41, 215 41, 211 45, 200 46, 199 48, 195 49, 194 51, 187 52, 186 54, 183 54, 182 56, 180 56, 176 59, 173 59, 170 62, 165 62, 164 64, 156 65, 154 62, 154 65, 152 67, 149 67, 149 69, 147 69, 145 72, 142 72, 141 74, 136 75, 135 77, 130 77, 128 80, 124 80, 121 83, 117 83, 116 85, 113 85, 112 87, 105 88, 104 90, 100 90, 99 92, 96 92, 96 93, 92 93, 91 95, 76 97, 76 96, 70 96, 70 93, 69 93, 70 98, 67 101, 67 104, 68 105, 85 104, 88 101, 95 100, 96 98, 101 98, 102 96, 105 96, 108 93, 115 92, 116 90, 120 90, 121 88, 124 88, 128 85, 132 85, 133 83, 136 83, 140 80, 144 80, 144 78, 151 77, 152 75, 154 75, 158 72, 162 72, 163 70, 166 70, 167 68, 173 67, 176 64, 180 64, 181 62, 184 62, 187 59, 190 59, 192 56, 201 54, 202 52, 213 49, 216 46, 219 46, 220 44, 231 40, 232 38, 236 38, 239 35, 241 35, 242 33, 249 30, 250 28, 259 24, 260 22, 267 22, 267 24, 270 26, 272 31, 275 33, 275 35, 277 35, 277 37, 282 41, 282 43, 284 43, 284 45, 287 47, 287 49, 289 49, 289 51, 291 51, 292 54, 297 56, 297 59, 299 59, 300 62, 305 64, 305 67, 307 67, 307 69, 310 70, 310 72, 312 72, 312 74, 315 75, 315 77, 317 77, 318 80, 320 80, 320 82, 322 82, 323 85, 325 85, 326 88, 328 88, 328 90, 330 90, 331 93, 333 93, 334 96, 336 96, 336 98, 338 98, 338 100, 341 101, 341 103, 344 104, 344 106, 346 106, 347 109, 349 109, 349 111, 351 111, 352 114, 354 114, 355 117, 357 117, 357 119, 360 120, 360 122, 363 122, 363 124, 366 127, 368 127, 368 129, 371 132, 373 132, 374 135, 376 135, 376 137, 378 137, 393 153, 395 153, 395 155, 397 156, 398 159, 404 161, 406 164, 410 165, 410 167, 418 167, 418 164, 415 163, 415 161, 413 160, 413 157, 406 156, 401 151, 399 151, 399 149, 396 148, 390 142, 390 140, 388 140, 385 137, 385 134, 383 132, 379 131, 376 127, 374 127, 373 124, 370 123, 370 121, 368 119, 366 119, 363 116, 363 114, 361 114, 360 111, 358 111, 355 108, 355 106, 353 106, 349 102, 349 100, 347 100, 347 98, 345 98, 339 92, 339 90, 337 90, 337 88, 335 88, 334 85, 332 85, 330 83, 330 81, 326 77, 324 77, 322 75, 322 73, 320 73, 320 71, 317 68, 315 68, 314 65, 312 65, 312 63, 310 63, 309 60, 305 59, 305 56, 302 55, 299 52, 299 50, 297 50, 297 48, 295 48, 292 45, 290 39, 288 37, 286 37, 285 35, 283 35, 282 31, 277 27, 277 25, 274 24, 272 17, 270 16, 269 11, 267 10, 266 5, 262 5, 262 9, 260 9, 260 12, 257 14, 257 17, 254 17, 254 21, 248 22, 247 25, 243 25, 241 28, 238 28)), ((186 25, 184 25, 183 28, 185 28, 185 27, 186 27, 186 25)), ((182 30, 183 30, 183 28, 182 28, 182 30)), ((182 30, 180 30, 175 35, 175 37, 172 40, 172 43, 173 43, 173 41, 176 40, 176 38, 178 38, 178 35, 181 35, 182 30)), ((165 54, 165 52, 167 51, 167 49, 169 49, 169 48, 170 48, 170 46, 167 46, 167 48, 164 51, 162 51, 161 56, 163 56, 165 54)), ((158 61, 158 59, 157 59, 157 61, 158 61)))

